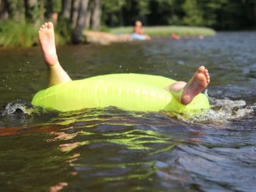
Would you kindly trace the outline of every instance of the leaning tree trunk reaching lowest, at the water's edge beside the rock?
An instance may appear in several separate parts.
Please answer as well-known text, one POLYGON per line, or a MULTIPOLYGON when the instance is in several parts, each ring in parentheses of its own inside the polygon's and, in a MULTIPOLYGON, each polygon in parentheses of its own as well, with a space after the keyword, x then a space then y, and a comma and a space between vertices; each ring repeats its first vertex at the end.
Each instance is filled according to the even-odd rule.
POLYGON ((76 28, 73 34, 73 43, 80 43, 82 41, 83 30, 85 27, 85 15, 87 12, 89 0, 80 1, 79 15, 77 18, 76 28))

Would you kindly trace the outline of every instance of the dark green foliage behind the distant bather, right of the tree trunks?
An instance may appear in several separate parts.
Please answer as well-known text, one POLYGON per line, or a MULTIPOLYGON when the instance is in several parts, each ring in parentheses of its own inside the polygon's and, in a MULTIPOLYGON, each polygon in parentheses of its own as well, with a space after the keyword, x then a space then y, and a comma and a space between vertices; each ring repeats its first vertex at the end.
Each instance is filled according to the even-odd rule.
POLYGON ((144 25, 206 26, 215 29, 255 27, 256 1, 252 0, 104 0, 102 21, 107 26, 130 26, 135 20, 144 25), (112 7, 112 8, 111 8, 112 7), (115 7, 115 11, 113 11, 115 7))

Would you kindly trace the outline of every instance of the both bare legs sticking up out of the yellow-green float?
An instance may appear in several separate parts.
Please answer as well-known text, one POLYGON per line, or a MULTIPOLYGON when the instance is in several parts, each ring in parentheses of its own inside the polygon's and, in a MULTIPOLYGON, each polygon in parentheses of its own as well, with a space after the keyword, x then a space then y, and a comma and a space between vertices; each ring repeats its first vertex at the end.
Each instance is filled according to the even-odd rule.
MULTIPOLYGON (((71 81, 57 57, 53 24, 44 23, 39 29, 38 36, 44 62, 48 67, 49 86, 71 81)), ((169 85, 165 90, 170 91, 182 104, 187 105, 207 87, 209 82, 208 70, 200 66, 187 83, 179 81, 169 85)))

